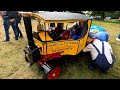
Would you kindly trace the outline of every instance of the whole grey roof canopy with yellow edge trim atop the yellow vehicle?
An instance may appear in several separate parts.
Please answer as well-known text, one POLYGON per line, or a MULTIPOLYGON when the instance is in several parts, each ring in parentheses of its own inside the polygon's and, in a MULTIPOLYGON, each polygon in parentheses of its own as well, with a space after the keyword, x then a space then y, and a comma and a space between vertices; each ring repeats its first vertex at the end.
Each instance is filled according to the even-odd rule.
POLYGON ((80 13, 72 13, 72 12, 39 12, 39 13, 31 13, 31 12, 20 12, 23 16, 34 16, 40 18, 44 22, 76 22, 81 20, 91 20, 89 16, 80 14, 80 13))

